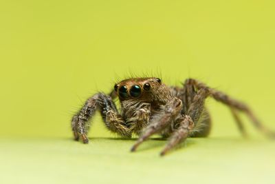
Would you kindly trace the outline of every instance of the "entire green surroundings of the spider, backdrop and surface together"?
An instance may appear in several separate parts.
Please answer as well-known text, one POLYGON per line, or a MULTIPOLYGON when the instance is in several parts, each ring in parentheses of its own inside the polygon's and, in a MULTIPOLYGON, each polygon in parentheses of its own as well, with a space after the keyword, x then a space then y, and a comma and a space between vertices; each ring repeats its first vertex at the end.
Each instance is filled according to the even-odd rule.
POLYGON ((188 77, 274 122, 274 1, 0 1, 1 183, 272 183, 275 142, 242 116, 241 138, 209 99, 212 133, 158 156, 165 141, 120 140, 96 115, 83 145, 70 119, 134 73, 188 77))

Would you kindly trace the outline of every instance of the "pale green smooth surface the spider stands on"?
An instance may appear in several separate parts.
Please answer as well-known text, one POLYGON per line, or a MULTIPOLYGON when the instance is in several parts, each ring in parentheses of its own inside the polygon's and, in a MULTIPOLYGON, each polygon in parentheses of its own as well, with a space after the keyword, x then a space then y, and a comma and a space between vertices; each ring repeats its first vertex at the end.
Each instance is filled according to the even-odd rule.
POLYGON ((0 143, 0 183, 274 183, 270 141, 188 139, 164 157, 164 141, 148 141, 136 153, 129 152, 133 140, 0 143))

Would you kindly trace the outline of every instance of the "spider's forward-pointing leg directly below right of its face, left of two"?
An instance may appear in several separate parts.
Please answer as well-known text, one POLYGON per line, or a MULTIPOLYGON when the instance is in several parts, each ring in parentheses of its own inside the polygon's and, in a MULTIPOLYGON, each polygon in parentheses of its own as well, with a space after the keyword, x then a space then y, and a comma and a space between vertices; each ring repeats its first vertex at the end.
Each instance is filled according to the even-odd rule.
POLYGON ((173 121, 181 112, 182 102, 177 97, 173 97, 164 107, 164 109, 155 114, 151 119, 151 122, 145 127, 142 135, 137 140, 135 145, 131 148, 131 152, 134 152, 137 147, 144 141, 146 141, 151 135, 163 130, 171 121, 173 121))

